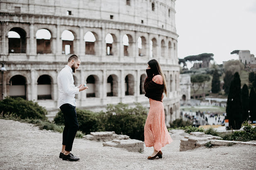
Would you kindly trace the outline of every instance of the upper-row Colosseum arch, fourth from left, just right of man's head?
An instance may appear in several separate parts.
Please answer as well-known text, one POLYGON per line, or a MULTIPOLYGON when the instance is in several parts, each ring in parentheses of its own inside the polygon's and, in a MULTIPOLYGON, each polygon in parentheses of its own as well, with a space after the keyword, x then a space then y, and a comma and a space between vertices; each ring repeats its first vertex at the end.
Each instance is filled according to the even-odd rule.
POLYGON ((99 54, 99 37, 93 31, 87 31, 84 36, 85 54, 98 55, 99 54))

